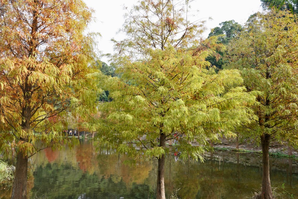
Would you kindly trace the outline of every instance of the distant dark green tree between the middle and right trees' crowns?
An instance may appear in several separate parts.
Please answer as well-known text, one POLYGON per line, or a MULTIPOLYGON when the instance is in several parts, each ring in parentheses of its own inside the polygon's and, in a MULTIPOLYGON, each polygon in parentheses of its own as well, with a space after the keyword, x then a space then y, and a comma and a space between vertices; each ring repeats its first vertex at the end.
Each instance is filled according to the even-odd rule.
MULTIPOLYGON (((235 38, 235 36, 241 30, 243 30, 243 27, 234 20, 221 22, 219 26, 220 27, 215 27, 211 30, 208 38, 210 38, 211 36, 217 36, 218 43, 222 43, 224 45, 227 45, 231 39, 235 38)), ((224 53, 222 50, 216 50, 216 52, 217 56, 209 56, 207 58, 207 61, 209 61, 211 65, 215 66, 218 70, 221 70, 222 65, 224 64, 221 57, 224 53)))

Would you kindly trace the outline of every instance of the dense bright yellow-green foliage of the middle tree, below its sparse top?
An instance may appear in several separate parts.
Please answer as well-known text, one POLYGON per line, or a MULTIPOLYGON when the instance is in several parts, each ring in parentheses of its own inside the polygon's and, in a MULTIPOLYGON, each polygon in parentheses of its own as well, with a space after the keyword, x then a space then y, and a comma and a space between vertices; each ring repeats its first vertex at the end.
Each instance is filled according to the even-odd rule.
POLYGON ((97 144, 117 148, 134 158, 143 150, 146 156, 160 157, 167 153, 158 140, 160 135, 165 134, 169 140, 176 139, 174 134, 178 133, 182 135, 177 138, 181 157, 202 160, 204 149, 192 147, 190 141, 206 145, 207 139, 216 140, 218 133, 234 136, 235 126, 254 119, 247 105, 255 103, 256 93, 237 87, 243 81, 239 72, 223 70, 216 74, 213 68, 207 70, 209 62, 205 58, 212 49, 196 56, 193 53, 169 46, 151 50, 152 58, 143 62, 123 57, 126 64, 117 69, 122 76, 102 83, 113 100, 99 105, 108 125, 102 126, 97 144))

